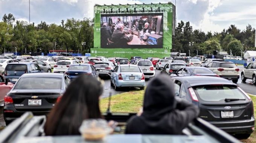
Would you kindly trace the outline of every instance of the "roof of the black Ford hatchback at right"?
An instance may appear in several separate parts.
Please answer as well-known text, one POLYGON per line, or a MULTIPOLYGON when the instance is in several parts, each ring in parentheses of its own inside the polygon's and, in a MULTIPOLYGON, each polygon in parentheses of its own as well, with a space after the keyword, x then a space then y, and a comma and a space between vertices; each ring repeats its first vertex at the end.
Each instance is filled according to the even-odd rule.
POLYGON ((236 85, 227 79, 214 77, 214 76, 178 76, 178 77, 173 77, 172 79, 179 79, 187 87, 194 87, 198 85, 222 85, 222 84, 236 85))

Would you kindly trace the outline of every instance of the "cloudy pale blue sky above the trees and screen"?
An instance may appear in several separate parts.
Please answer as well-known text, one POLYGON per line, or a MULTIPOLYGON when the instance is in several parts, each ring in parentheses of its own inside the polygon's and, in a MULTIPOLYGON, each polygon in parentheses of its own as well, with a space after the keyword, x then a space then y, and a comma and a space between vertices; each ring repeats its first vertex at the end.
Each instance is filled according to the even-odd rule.
MULTIPOLYGON (((175 3, 175 0, 157 2, 175 3)), ((93 18, 93 6, 134 3, 155 3, 155 0, 30 0, 30 21, 60 24, 62 19, 93 18)), ((13 14, 16 20, 29 19, 29 0, 0 0, 0 17, 13 14)), ((220 32, 235 24, 245 29, 256 28, 256 0, 176 0, 177 22, 190 21, 194 29, 220 32)), ((2 19, 2 18, 1 18, 2 19)))

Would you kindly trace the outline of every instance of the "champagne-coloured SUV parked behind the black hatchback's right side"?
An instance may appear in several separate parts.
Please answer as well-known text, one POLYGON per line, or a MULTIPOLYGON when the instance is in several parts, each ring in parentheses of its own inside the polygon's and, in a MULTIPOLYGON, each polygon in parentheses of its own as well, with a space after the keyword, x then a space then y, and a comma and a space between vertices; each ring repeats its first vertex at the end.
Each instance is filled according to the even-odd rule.
POLYGON ((232 80, 237 83, 239 79, 239 68, 233 62, 229 61, 212 61, 207 65, 209 70, 216 73, 219 77, 232 80))

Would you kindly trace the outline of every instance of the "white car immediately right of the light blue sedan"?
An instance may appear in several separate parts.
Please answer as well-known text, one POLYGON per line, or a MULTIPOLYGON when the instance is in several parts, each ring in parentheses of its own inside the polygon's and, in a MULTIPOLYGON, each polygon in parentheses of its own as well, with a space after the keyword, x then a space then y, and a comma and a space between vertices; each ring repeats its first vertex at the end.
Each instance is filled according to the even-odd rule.
POLYGON ((151 61, 149 61, 148 59, 140 59, 137 62, 137 65, 142 70, 142 73, 144 74, 145 78, 155 77, 155 69, 151 61))

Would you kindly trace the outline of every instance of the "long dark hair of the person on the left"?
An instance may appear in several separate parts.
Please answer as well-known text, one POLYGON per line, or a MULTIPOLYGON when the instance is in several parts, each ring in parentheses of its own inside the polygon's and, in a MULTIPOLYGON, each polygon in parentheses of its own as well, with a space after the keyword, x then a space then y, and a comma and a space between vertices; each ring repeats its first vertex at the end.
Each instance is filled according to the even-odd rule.
POLYGON ((78 135, 84 119, 102 118, 99 97, 101 82, 88 75, 77 77, 47 117, 46 135, 78 135))

